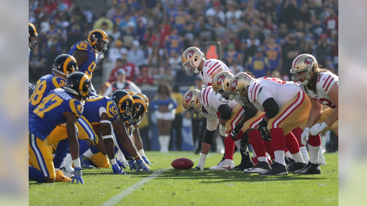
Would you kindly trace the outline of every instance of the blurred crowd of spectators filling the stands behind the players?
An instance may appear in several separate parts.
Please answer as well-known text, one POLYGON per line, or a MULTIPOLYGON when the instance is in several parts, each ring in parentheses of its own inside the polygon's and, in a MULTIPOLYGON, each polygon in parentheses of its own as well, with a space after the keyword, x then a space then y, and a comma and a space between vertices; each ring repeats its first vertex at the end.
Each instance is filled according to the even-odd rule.
POLYGON ((221 43, 221 60, 233 73, 288 80, 292 60, 302 53, 338 73, 338 0, 106 0, 104 10, 90 3, 29 1, 29 22, 39 34, 31 81, 50 73, 55 57, 95 28, 109 35, 96 70, 106 70, 110 82, 117 75, 111 71, 123 68, 138 86, 191 85, 181 54, 191 46, 205 53, 206 41, 221 43))

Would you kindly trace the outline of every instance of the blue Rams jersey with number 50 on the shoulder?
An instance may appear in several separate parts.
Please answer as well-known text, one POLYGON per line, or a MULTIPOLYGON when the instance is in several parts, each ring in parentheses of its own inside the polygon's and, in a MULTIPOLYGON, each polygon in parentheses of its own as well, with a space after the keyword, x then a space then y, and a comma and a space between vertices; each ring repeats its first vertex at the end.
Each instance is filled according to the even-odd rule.
POLYGON ((117 119, 117 106, 111 98, 107 96, 91 96, 87 99, 84 104, 83 116, 91 125, 99 124, 103 112, 107 113, 111 122, 117 119))

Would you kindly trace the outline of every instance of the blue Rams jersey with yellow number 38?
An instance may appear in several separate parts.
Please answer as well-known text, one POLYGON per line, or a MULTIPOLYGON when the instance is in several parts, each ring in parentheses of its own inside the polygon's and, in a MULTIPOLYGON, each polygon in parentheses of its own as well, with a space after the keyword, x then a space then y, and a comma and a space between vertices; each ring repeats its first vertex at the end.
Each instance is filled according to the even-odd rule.
POLYGON ((28 101, 28 118, 32 116, 34 108, 38 106, 43 98, 47 96, 47 94, 57 88, 64 88, 65 80, 62 77, 55 76, 55 74, 47 74, 41 77, 32 93, 28 101))

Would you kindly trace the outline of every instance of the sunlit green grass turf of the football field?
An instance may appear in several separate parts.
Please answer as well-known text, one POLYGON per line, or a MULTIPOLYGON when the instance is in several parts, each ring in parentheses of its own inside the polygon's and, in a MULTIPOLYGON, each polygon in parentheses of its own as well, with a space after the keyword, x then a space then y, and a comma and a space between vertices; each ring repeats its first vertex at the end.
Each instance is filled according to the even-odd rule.
MULTIPOLYGON (((146 152, 152 171, 168 168, 192 152, 146 152)), ((262 177, 244 172, 212 171, 222 154, 207 157, 204 171, 169 169, 137 188, 116 205, 338 205, 338 153, 327 153, 321 174, 262 177)), ((235 154, 235 165, 240 155, 235 154)), ((195 166, 194 165, 194 166, 195 166)), ((101 205, 151 173, 113 175, 112 169, 83 170, 85 184, 29 182, 29 205, 101 205)))

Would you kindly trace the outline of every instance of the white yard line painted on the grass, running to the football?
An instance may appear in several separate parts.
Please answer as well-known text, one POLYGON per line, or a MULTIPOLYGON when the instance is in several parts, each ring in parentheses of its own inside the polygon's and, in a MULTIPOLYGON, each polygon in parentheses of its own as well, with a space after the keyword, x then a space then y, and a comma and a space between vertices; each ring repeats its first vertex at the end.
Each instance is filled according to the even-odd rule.
MULTIPOLYGON (((210 156, 211 156, 211 154, 209 154, 207 157, 210 157, 210 156)), ((199 158, 193 159, 192 161, 195 162, 197 160, 199 160, 199 158)), ((138 181, 137 183, 135 183, 135 184, 131 185, 130 187, 126 188, 125 190, 121 191, 119 194, 113 196, 108 201, 106 201, 105 203, 103 203, 101 206, 115 205, 116 203, 120 202, 124 197, 126 197, 127 195, 130 195, 136 189, 138 189, 139 187, 141 187, 144 184, 148 183, 150 180, 156 178, 157 176, 159 176, 160 174, 162 174, 164 171, 166 171, 168 169, 172 169, 172 167, 161 169, 161 170, 157 170, 157 171, 153 172, 153 174, 150 174, 145 179, 142 179, 142 180, 138 181)))

